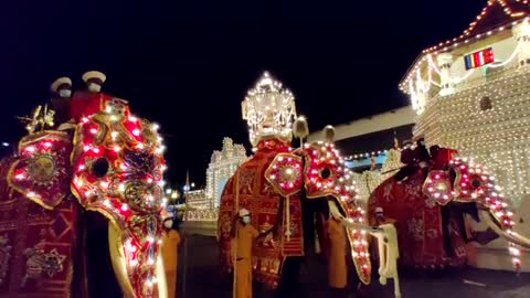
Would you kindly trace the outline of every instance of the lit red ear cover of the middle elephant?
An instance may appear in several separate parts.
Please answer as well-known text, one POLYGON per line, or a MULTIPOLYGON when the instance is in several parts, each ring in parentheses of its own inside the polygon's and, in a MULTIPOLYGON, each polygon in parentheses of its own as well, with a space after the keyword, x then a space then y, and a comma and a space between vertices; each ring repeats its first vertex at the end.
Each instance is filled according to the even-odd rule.
POLYGON ((294 153, 278 153, 265 170, 265 179, 283 196, 289 196, 304 185, 304 159, 294 153))

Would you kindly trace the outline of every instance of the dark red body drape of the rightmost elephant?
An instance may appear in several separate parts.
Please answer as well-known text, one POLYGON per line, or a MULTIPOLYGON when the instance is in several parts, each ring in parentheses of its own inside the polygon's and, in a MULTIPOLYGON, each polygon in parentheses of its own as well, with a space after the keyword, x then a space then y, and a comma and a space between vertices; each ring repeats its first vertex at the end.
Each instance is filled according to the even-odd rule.
POLYGON ((401 265, 463 266, 467 258, 463 235, 456 222, 444 217, 443 206, 424 195, 424 181, 421 171, 401 184, 389 178, 370 195, 369 215, 373 219, 375 207, 382 207, 395 220, 401 265))

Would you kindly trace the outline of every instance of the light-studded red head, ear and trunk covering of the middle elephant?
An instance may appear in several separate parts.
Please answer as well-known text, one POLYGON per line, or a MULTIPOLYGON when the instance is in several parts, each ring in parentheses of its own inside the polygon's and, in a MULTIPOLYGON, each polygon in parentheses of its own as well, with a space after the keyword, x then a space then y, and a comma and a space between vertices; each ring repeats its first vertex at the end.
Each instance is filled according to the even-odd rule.
MULTIPOLYGON (((318 141, 288 151, 278 153, 265 171, 265 178, 276 192, 289 200, 290 195, 305 185, 307 199, 335 196, 350 222, 364 223, 365 212, 358 203, 359 191, 354 184, 354 174, 344 166, 344 159, 335 145, 318 141)), ((351 227, 347 231, 359 277, 368 284, 371 265, 365 231, 351 227)))

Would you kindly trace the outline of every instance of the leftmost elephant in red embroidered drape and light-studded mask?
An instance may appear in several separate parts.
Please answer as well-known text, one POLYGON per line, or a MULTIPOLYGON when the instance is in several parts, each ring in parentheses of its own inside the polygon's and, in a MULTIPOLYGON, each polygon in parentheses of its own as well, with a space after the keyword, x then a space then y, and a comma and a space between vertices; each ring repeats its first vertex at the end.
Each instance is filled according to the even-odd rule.
POLYGON ((118 281, 119 296, 167 296, 157 127, 134 117, 125 100, 92 93, 88 103, 99 108, 70 126, 74 134, 50 130, 33 115, 40 127, 0 161, 0 297, 116 297, 108 280, 118 281), (96 222, 108 235, 103 243, 91 243, 96 222), (91 255, 103 245, 103 255, 91 255))

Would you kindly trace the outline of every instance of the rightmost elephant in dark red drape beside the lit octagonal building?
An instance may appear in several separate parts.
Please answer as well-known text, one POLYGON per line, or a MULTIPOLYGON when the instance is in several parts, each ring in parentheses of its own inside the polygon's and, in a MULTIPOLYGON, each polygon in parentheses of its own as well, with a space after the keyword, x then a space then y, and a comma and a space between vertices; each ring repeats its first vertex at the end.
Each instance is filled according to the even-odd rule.
POLYGON ((402 160, 411 161, 404 162, 409 168, 383 181, 369 198, 371 221, 382 216, 395 222, 400 264, 462 267, 467 262, 466 243, 485 245, 500 235, 510 243, 519 268, 518 247, 530 247, 530 241, 512 230, 513 212, 495 178, 485 167, 458 158, 453 149, 433 146, 427 158, 416 158, 418 151, 425 156, 422 146, 405 148, 402 160), (468 235, 464 214, 485 221, 489 228, 468 235))

